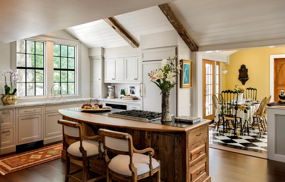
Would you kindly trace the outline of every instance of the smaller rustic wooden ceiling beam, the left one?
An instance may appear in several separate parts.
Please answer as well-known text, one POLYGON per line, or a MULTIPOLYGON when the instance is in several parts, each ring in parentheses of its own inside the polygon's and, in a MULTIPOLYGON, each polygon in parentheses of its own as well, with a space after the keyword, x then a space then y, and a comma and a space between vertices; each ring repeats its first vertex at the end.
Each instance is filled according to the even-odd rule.
POLYGON ((104 20, 133 48, 138 48, 138 43, 113 18, 105 18, 104 20))

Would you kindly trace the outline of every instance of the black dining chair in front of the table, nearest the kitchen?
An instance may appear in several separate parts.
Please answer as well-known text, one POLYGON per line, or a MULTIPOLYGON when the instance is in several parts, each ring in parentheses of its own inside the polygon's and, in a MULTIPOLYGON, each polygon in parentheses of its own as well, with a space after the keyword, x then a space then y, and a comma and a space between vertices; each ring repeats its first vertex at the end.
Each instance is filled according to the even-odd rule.
POLYGON ((240 132, 242 133, 242 118, 237 117, 237 102, 231 102, 231 100, 237 100, 237 92, 233 90, 224 90, 222 91, 222 97, 223 100, 225 100, 225 102, 222 102, 221 108, 223 119, 223 133, 225 132, 225 125, 226 127, 229 126, 229 121, 231 121, 235 133, 235 129, 237 128, 236 126, 238 123, 237 119, 240 119, 240 132))

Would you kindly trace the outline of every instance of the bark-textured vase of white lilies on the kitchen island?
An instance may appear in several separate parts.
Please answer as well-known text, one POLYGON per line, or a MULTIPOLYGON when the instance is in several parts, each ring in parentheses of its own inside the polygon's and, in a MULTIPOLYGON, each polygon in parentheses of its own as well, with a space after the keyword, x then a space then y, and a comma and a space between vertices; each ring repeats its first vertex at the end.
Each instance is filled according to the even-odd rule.
POLYGON ((161 90, 161 121, 172 121, 170 116, 170 89, 172 89, 175 84, 178 72, 176 70, 181 70, 181 63, 175 67, 174 60, 177 55, 171 59, 169 57, 169 62, 167 59, 161 61, 161 68, 155 67, 153 71, 148 73, 150 82, 155 83, 161 90))

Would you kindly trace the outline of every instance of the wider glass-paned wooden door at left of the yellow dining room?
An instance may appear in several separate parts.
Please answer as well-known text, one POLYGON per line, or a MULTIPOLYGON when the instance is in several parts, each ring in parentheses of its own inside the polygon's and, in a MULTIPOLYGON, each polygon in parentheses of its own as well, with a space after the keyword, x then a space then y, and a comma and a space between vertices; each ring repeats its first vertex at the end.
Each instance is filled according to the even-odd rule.
POLYGON ((203 59, 203 119, 214 120, 214 61, 203 59))

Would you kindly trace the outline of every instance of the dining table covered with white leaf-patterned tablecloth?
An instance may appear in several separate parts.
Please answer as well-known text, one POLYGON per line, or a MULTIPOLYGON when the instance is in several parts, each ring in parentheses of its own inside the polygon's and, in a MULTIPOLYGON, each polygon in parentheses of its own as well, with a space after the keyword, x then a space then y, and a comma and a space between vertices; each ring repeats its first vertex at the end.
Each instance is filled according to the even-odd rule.
MULTIPOLYGON (((240 117, 245 120, 248 127, 248 136, 249 134, 249 126, 253 122, 253 115, 259 108, 260 102, 245 102, 244 104, 237 104, 237 118, 240 117)), ((232 103, 225 103, 222 104, 221 102, 217 103, 217 108, 215 112, 214 121, 218 123, 218 120, 222 117, 223 111, 224 114, 229 114, 232 111, 232 107, 235 107, 236 104, 232 103), (225 107, 225 109, 223 109, 225 107)), ((245 124, 245 123, 244 123, 245 124)))

